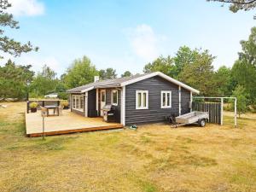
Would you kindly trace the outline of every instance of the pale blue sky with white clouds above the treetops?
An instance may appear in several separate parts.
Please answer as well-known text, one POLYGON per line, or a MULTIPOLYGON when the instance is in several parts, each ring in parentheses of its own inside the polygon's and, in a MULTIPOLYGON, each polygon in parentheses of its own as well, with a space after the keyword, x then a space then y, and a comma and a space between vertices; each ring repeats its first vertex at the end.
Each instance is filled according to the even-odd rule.
POLYGON ((143 73, 159 55, 174 56, 180 46, 209 49, 213 66, 232 67, 255 25, 255 12, 230 12, 228 5, 206 0, 9 0, 20 29, 5 34, 39 47, 12 57, 38 72, 44 64, 60 76, 86 55, 97 69, 113 67, 143 73))

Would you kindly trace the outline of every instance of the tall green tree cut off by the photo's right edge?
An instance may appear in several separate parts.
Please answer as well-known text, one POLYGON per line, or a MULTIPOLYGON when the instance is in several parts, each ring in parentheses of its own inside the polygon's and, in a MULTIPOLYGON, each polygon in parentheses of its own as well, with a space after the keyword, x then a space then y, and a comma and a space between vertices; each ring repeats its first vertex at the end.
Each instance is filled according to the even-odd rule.
POLYGON ((256 27, 247 41, 241 41, 239 59, 232 67, 232 75, 237 84, 242 85, 249 96, 250 104, 256 103, 256 27))

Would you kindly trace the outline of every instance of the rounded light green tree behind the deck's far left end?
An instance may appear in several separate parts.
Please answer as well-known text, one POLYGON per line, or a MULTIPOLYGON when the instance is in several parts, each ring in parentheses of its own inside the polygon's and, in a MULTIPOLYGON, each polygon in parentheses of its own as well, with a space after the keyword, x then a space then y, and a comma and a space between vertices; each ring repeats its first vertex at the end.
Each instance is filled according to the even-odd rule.
POLYGON ((39 72, 37 77, 32 81, 32 96, 45 96, 51 92, 55 92, 58 84, 58 79, 55 76, 55 71, 44 65, 42 72, 39 72))

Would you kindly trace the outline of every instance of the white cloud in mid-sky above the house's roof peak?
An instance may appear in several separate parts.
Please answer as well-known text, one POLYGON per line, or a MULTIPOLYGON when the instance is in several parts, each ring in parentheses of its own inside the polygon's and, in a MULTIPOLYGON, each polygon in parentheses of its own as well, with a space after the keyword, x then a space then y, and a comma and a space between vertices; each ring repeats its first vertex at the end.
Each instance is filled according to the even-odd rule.
POLYGON ((151 26, 139 25, 127 30, 133 52, 144 61, 152 61, 160 55, 160 41, 165 37, 155 34, 151 26))

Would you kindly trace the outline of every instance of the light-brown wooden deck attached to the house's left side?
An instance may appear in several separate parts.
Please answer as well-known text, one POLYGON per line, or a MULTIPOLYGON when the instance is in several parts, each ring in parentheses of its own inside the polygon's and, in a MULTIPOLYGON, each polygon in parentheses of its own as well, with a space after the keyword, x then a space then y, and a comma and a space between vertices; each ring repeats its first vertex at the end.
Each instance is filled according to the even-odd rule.
MULTIPOLYGON (((44 118, 44 135, 53 136, 67 133, 119 129, 124 126, 118 123, 107 123, 102 118, 85 118, 70 110, 63 110, 60 116, 44 118)), ((40 137, 43 135, 43 119, 41 111, 26 113, 26 136, 40 137)))

